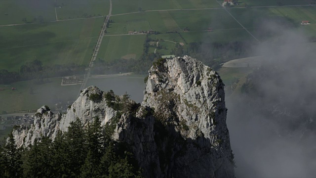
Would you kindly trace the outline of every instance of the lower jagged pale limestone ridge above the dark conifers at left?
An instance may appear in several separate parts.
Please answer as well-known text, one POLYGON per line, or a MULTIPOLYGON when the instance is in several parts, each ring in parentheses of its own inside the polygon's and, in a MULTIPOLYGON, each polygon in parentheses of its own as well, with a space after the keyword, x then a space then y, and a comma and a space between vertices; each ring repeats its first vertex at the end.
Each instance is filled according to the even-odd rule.
POLYGON ((35 114, 34 123, 30 128, 20 126, 13 131, 13 136, 18 146, 33 144, 35 138, 48 136, 54 139, 59 131, 67 131, 71 122, 79 118, 85 125, 92 122, 94 117, 99 117, 101 125, 104 126, 117 111, 108 107, 103 91, 97 87, 84 89, 79 98, 67 109, 66 114, 54 114, 47 106, 42 106, 35 114), (91 96, 96 99, 91 100, 91 96), (100 97, 100 98, 98 98, 100 97))

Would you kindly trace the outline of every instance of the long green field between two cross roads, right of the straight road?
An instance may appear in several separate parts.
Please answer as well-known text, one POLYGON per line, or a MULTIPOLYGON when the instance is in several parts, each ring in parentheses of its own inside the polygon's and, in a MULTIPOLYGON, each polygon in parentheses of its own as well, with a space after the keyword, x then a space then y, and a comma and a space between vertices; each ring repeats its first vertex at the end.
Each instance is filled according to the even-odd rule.
POLYGON ((134 30, 182 32, 186 27, 190 31, 240 28, 224 9, 142 12, 113 16, 111 20, 114 21, 110 23, 108 30, 111 35, 127 34, 128 31, 134 30))

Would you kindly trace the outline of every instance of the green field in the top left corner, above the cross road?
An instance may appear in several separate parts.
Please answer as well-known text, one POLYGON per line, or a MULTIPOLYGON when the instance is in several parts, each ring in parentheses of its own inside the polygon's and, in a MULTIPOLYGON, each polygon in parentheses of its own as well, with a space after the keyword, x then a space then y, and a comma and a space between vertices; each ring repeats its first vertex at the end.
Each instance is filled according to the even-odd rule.
POLYGON ((45 22, 56 20, 54 0, 0 0, 0 12, 0 25, 22 24, 23 18, 27 22, 41 17, 45 22))

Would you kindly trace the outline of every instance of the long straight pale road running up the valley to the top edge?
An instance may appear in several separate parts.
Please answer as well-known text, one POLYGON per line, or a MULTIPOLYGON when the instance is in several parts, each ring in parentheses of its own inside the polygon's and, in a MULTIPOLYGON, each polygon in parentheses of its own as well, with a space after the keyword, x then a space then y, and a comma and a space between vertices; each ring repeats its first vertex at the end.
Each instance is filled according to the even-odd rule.
POLYGON ((107 23, 111 17, 111 13, 112 13, 112 0, 110 0, 110 10, 109 10, 109 15, 107 15, 105 21, 104 21, 104 24, 103 24, 103 27, 102 27, 102 30, 100 32, 100 36, 99 36, 99 39, 98 39, 98 42, 97 42, 97 45, 96 47, 94 48, 94 51, 93 51, 93 54, 92 54, 92 58, 91 58, 91 61, 90 61, 90 64, 89 64, 89 67, 86 69, 86 73, 84 75, 84 81, 83 83, 81 84, 81 87, 80 87, 80 90, 79 90, 79 93, 77 95, 77 97, 79 97, 80 95, 80 92, 82 89, 85 89, 86 88, 86 85, 88 83, 88 80, 90 78, 90 72, 91 72, 91 68, 93 67, 93 62, 95 61, 97 55, 98 55, 98 52, 99 52, 99 48, 100 48, 100 45, 102 43, 102 39, 103 39, 103 36, 104 36, 104 31, 107 29, 107 23))

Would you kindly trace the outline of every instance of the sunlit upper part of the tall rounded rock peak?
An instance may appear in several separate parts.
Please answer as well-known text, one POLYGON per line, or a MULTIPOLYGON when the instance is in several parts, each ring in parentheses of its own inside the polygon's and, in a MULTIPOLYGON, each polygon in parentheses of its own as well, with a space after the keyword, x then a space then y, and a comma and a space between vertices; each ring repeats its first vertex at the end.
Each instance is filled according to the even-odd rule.
POLYGON ((224 84, 211 68, 184 56, 159 60, 149 74, 142 106, 155 108, 163 121, 180 124, 184 137, 210 138, 222 129, 216 127, 226 127, 224 84))

